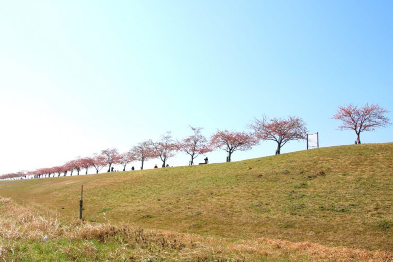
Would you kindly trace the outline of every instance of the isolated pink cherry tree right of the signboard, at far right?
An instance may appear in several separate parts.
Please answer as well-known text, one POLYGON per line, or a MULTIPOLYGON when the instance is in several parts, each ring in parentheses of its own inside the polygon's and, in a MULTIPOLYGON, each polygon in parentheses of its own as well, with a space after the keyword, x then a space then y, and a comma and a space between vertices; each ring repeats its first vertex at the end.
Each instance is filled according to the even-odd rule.
POLYGON ((355 130, 356 141, 360 144, 361 132, 374 131, 376 127, 386 127, 391 124, 389 118, 384 116, 386 113, 389 113, 389 111, 378 104, 366 104, 363 107, 349 104, 339 106, 337 113, 332 118, 343 122, 339 126, 339 130, 355 130))

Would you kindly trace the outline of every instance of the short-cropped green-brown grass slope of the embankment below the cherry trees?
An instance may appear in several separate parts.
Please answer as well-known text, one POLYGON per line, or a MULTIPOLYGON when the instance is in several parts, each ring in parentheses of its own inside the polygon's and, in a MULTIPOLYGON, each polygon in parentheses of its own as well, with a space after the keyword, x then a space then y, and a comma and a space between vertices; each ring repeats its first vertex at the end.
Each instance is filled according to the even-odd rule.
MULTIPOLYGON (((223 258, 246 257, 228 246, 266 251, 274 247, 269 244, 274 241, 287 248, 273 248, 274 254, 266 251, 265 255, 255 251, 249 259, 321 259, 306 252, 307 248, 291 249, 300 245, 296 243, 307 243, 311 249, 323 246, 324 250, 374 254, 345 256, 348 260, 392 258, 393 143, 320 148, 203 166, 1 181, 0 196, 44 218, 56 218, 61 225, 73 225, 81 185, 84 223, 141 227, 153 235, 176 235, 175 239, 196 238, 213 251, 226 247, 223 258)), ((68 240, 60 237, 59 241, 68 240)), ((190 241, 183 242, 192 250, 190 241)), ((205 259, 215 260, 206 252, 205 259)), ((197 257, 202 258, 192 258, 197 257)))

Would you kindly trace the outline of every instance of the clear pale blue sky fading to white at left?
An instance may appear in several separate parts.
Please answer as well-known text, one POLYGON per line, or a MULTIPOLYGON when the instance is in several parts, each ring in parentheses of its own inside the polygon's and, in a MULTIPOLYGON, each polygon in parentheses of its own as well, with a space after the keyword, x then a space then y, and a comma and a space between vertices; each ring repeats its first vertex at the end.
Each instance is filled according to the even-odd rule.
MULTIPOLYGON (((165 131, 181 139, 190 124, 207 137, 247 131, 263 113, 303 118, 321 147, 351 144, 355 132, 331 119, 337 107, 393 111, 392 87, 393 1, 4 0, 0 175, 126 151, 165 131)), ((391 142, 392 130, 360 139, 391 142)), ((282 153, 305 148, 292 141, 282 153)), ((232 160, 275 150, 265 141, 232 160)))

